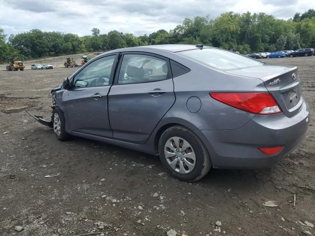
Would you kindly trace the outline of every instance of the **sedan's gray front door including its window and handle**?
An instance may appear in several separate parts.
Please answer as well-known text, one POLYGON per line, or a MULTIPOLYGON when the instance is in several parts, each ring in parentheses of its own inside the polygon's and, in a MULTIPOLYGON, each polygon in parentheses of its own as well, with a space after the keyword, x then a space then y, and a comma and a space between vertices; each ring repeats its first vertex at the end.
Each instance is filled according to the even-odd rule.
POLYGON ((71 131, 113 137, 108 120, 107 95, 116 55, 94 60, 74 75, 63 93, 64 116, 71 131))

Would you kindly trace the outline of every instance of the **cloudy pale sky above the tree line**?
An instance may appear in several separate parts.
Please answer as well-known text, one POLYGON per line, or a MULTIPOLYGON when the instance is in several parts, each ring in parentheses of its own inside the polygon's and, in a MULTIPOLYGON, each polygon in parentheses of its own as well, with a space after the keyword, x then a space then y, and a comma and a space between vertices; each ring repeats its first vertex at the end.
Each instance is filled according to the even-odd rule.
POLYGON ((0 28, 8 35, 41 29, 82 36, 94 27, 142 35, 173 29, 184 18, 216 18, 226 11, 289 19, 315 8, 315 0, 0 0, 0 6, 0 28))

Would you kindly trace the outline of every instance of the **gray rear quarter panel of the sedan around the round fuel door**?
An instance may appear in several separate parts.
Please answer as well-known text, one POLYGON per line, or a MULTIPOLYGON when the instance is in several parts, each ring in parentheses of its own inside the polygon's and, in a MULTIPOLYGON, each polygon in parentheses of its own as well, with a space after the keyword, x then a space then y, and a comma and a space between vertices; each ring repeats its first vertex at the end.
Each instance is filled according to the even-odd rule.
POLYGON ((199 63, 184 64, 190 72, 173 78, 176 101, 163 121, 181 119, 192 130, 237 129, 255 114, 241 111, 213 99, 210 92, 268 92, 260 79, 235 76, 199 63), (198 112, 187 109, 187 101, 196 96, 201 101, 198 112))

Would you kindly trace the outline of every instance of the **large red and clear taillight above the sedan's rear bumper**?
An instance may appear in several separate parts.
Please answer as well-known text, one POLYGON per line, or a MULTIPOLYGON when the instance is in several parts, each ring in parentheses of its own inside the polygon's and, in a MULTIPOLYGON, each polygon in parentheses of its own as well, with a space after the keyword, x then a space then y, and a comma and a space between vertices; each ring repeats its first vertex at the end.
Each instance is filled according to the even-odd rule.
POLYGON ((254 114, 270 115, 282 112, 270 93, 212 92, 210 96, 229 106, 254 114))

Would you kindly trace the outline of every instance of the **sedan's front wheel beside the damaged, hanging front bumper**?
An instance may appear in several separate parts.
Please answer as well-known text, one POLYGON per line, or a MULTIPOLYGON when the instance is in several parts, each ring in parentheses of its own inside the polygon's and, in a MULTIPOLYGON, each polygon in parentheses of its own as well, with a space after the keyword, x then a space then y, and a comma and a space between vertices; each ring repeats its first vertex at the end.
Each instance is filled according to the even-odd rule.
POLYGON ((67 141, 70 138, 70 135, 65 132, 63 112, 58 107, 53 111, 53 129, 58 140, 67 141))

